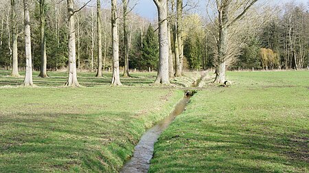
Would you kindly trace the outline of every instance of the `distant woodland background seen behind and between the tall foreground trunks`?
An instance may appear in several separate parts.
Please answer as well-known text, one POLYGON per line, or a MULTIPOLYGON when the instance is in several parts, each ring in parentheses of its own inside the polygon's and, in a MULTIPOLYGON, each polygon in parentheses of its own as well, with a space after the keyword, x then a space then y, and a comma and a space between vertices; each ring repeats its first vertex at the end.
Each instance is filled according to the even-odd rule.
MULTIPOLYGON (((13 1, 13 0, 12 0, 13 1)), ((18 66, 25 67, 25 34, 23 3, 16 1, 15 16, 12 1, 0 2, 0 67, 12 69, 12 39, 17 39, 18 66), (16 35, 14 36, 14 32, 16 35)), ((32 65, 41 68, 41 17, 39 1, 30 3, 32 38, 32 65)), ((76 1, 76 9, 83 3, 76 1)), ((134 6, 134 4, 130 4, 134 6)), ((210 8, 211 5, 209 5, 210 8)), ((122 3, 117 7, 122 16, 122 3)), ((174 23, 176 5, 169 3, 170 47, 175 54, 174 23), (174 5, 174 8, 173 8, 174 5)), ((45 0, 45 41, 47 70, 67 69, 68 21, 65 1, 45 0)), ((102 63, 106 70, 112 64, 111 9, 102 8, 102 63)), ((211 11, 211 10, 209 10, 211 11)), ((208 12, 209 13, 209 12, 208 12)), ((216 16, 194 14, 190 8, 183 12, 183 67, 184 69, 209 69, 215 67, 218 27, 216 16)), ((95 7, 85 6, 76 12, 76 66, 95 70, 98 65, 97 21, 95 7)), ((123 20, 119 19, 119 66, 124 67, 123 20)), ((128 68, 157 70, 159 62, 158 23, 148 21, 134 12, 128 12, 128 68)), ((255 4, 229 34, 231 60, 228 69, 304 69, 309 62, 309 12, 308 5, 286 3, 280 5, 255 4)), ((175 63, 175 62, 174 62, 175 63)))

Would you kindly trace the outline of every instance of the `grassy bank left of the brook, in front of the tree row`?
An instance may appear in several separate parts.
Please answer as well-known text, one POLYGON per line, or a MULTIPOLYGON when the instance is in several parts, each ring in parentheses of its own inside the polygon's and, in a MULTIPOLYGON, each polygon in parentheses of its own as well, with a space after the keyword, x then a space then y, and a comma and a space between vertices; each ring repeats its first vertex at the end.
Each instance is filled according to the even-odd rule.
POLYGON ((159 87, 2 88, 0 172, 116 172, 182 96, 159 87))

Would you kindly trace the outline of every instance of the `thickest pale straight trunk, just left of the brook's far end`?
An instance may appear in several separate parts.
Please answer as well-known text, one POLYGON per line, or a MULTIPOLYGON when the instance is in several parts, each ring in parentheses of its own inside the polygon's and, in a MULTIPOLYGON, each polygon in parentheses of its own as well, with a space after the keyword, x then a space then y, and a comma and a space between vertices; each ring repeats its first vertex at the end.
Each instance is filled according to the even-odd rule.
POLYGON ((155 84, 170 84, 168 75, 168 1, 153 0, 157 5, 159 19, 159 71, 155 84))

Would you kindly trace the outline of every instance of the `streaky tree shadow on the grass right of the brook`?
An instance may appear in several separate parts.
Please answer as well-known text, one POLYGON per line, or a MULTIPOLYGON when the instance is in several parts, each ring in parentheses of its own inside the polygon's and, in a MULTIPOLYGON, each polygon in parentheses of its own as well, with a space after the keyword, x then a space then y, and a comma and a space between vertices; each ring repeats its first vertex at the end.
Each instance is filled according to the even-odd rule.
MULTIPOLYGON (((258 129, 251 128, 264 123, 251 121, 236 126, 197 122, 190 133, 173 132, 173 135, 163 136, 160 141, 165 142, 159 143, 155 150, 164 150, 165 154, 154 154, 154 158, 160 158, 160 168, 154 167, 150 172, 305 172, 309 161, 309 131, 297 130, 279 122, 272 123, 271 127, 265 124, 258 129), (290 133, 278 134, 272 132, 273 128, 290 128, 286 129, 290 133), (175 151, 176 154, 173 154, 175 151)), ((158 164, 156 161, 154 165, 158 164)))

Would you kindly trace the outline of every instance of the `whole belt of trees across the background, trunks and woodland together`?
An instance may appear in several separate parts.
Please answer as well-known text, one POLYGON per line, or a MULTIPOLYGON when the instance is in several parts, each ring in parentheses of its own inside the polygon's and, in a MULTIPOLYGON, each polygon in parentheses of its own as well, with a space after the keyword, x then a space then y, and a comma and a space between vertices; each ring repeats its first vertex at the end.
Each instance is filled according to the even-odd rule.
POLYGON ((190 11, 197 5, 194 1, 153 1, 158 11, 155 23, 134 14, 137 2, 127 0, 111 0, 109 9, 102 8, 100 0, 95 5, 1 1, 0 66, 16 77, 23 67, 27 78, 32 68, 43 78, 48 77, 47 69, 68 69, 68 86, 79 86, 77 69, 95 70, 97 77, 102 69, 112 69, 111 83, 119 85, 119 76, 129 77, 129 69, 155 70, 156 82, 169 84, 184 68, 214 67, 216 82, 222 83, 227 68, 308 67, 306 5, 205 0, 206 12, 195 14, 190 11))

